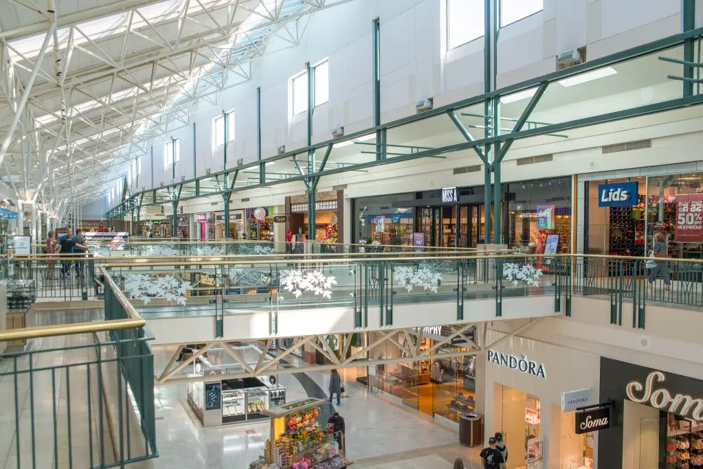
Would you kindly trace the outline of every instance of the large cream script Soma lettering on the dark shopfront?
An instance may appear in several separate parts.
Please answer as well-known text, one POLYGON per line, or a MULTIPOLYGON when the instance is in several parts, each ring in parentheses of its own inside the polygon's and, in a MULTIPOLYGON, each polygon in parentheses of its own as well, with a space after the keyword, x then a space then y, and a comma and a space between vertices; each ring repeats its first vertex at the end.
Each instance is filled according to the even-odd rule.
POLYGON ((664 385, 659 385, 664 381, 666 376, 662 371, 652 371, 644 384, 639 381, 628 383, 625 394, 632 402, 703 421, 703 399, 694 399, 681 393, 673 394, 664 385))

